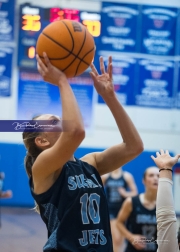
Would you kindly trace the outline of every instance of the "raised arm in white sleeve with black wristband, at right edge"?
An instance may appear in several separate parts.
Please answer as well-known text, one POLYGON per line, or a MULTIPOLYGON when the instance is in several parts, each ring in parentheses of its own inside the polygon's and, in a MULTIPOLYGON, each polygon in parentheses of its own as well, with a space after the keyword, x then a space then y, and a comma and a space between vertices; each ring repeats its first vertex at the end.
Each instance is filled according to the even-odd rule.
MULTIPOLYGON (((157 157, 151 156, 160 169, 172 169, 180 155, 171 157, 169 152, 163 150, 156 153, 157 157)), ((172 172, 160 171, 156 200, 157 217, 157 243, 158 252, 179 252, 177 240, 177 219, 174 209, 172 193, 172 172)))

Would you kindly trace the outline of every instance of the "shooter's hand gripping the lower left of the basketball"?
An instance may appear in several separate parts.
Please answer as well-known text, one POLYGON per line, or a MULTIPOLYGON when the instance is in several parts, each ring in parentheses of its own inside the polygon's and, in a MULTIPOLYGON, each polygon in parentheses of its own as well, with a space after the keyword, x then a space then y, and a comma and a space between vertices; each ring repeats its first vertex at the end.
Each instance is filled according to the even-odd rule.
POLYGON ((64 82, 67 82, 66 75, 51 64, 45 52, 43 53, 43 57, 44 57, 45 64, 40 59, 39 55, 36 55, 37 69, 38 69, 38 72, 43 77, 43 80, 56 86, 59 86, 60 84, 63 84, 64 82))

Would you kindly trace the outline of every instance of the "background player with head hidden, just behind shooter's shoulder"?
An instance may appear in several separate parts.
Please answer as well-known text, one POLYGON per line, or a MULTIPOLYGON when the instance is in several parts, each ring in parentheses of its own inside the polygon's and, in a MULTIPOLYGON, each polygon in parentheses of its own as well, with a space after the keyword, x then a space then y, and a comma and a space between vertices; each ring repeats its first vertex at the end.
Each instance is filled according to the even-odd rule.
POLYGON ((124 251, 124 237, 117 229, 117 215, 122 203, 127 197, 137 195, 137 187, 131 173, 123 171, 122 168, 103 175, 102 182, 105 187, 109 207, 111 232, 114 252, 124 251))

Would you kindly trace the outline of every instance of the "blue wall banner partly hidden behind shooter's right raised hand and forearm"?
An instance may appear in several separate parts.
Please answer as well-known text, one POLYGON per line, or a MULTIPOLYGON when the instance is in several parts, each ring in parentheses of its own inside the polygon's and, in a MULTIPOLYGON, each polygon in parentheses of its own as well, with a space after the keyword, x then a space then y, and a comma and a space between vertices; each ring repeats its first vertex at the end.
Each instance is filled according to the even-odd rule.
MULTIPOLYGON (((106 52, 100 52, 104 58, 105 68, 108 65, 108 56, 106 52)), ((123 105, 134 104, 134 87, 136 75, 136 59, 131 57, 113 56, 113 84, 118 100, 123 105)), ((98 96, 98 102, 104 103, 101 96, 98 96)))

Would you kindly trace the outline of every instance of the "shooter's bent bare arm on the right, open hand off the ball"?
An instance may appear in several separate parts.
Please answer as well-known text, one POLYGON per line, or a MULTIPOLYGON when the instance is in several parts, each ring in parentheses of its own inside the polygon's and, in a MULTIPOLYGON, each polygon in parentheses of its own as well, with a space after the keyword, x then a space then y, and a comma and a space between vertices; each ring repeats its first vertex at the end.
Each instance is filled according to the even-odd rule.
POLYGON ((83 158, 84 161, 97 168, 100 175, 111 172, 125 163, 134 159, 143 151, 143 143, 134 124, 129 118, 122 105, 119 103, 114 92, 112 80, 112 57, 109 57, 108 70, 105 72, 103 58, 100 57, 101 75, 95 66, 91 65, 91 76, 94 86, 109 107, 122 136, 123 142, 108 148, 103 152, 89 154, 83 158))

